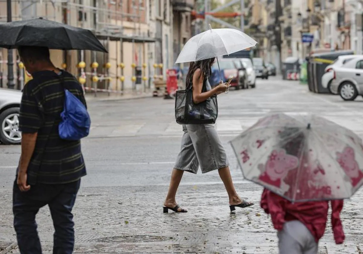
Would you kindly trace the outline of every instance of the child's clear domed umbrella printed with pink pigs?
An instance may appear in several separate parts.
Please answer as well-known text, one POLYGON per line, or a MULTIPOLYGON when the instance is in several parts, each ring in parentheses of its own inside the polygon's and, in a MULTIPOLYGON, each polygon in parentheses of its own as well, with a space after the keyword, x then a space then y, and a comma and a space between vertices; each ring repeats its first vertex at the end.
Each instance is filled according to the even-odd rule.
POLYGON ((363 185, 363 144, 316 115, 270 113, 231 141, 244 177, 290 201, 350 198, 363 185))

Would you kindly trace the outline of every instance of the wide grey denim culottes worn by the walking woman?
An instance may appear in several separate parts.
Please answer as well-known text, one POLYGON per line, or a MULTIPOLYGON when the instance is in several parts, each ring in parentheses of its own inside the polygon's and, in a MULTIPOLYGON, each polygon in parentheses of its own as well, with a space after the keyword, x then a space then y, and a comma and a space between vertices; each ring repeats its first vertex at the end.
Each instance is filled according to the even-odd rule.
POLYGON ((228 158, 214 124, 187 124, 183 125, 183 131, 174 168, 196 174, 199 165, 202 173, 228 166, 228 158))

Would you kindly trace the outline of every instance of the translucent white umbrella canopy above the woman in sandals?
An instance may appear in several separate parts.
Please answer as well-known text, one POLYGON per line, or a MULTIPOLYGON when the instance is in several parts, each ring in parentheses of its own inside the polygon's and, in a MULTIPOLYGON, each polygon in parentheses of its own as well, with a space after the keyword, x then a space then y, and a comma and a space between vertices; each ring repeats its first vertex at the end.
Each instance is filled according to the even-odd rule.
POLYGON ((257 41, 231 28, 209 29, 190 38, 175 63, 195 62, 253 47, 257 41))

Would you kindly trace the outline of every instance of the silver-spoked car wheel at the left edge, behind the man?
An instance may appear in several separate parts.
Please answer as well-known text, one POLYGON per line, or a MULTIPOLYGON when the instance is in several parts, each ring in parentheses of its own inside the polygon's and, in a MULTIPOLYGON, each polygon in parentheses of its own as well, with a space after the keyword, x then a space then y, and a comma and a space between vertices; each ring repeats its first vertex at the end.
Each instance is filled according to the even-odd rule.
POLYGON ((0 114, 0 142, 6 145, 20 144, 19 107, 8 108, 0 114))

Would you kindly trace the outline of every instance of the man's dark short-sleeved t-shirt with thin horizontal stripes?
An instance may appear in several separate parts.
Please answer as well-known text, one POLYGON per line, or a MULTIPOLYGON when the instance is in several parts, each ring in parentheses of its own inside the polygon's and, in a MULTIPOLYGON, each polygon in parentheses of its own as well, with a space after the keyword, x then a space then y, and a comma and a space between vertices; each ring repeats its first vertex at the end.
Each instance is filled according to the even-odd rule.
MULTIPOLYGON (((62 71, 64 88, 86 105, 82 87, 70 73, 62 71)), ((20 105, 19 128, 23 133, 38 132, 28 167, 28 183, 62 184, 86 175, 80 141, 63 140, 58 134, 64 108, 60 75, 53 71, 33 73, 26 83, 20 105), (44 109, 41 112, 38 105, 44 109)))

